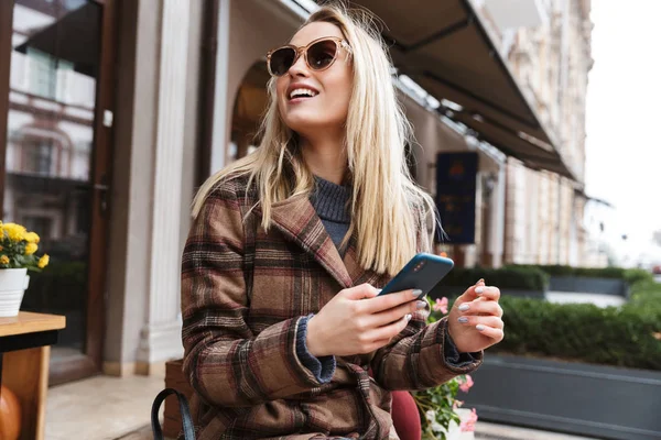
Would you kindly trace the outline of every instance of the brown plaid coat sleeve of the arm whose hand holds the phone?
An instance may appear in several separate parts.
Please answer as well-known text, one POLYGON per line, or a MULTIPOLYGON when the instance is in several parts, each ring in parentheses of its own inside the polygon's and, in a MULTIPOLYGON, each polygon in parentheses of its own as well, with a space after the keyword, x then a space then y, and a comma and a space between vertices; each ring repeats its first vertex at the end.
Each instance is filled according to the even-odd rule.
POLYGON ((253 406, 321 384, 296 355, 299 321, 254 334, 243 274, 237 190, 223 184, 194 220, 182 258, 184 372, 209 404, 253 406))

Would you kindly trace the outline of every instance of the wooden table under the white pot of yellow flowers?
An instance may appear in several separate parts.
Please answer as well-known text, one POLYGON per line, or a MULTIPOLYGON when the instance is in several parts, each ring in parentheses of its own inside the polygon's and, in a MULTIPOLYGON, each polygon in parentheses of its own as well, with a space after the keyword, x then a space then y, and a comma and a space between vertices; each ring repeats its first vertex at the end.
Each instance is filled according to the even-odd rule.
POLYGON ((0 318, 0 383, 21 403, 21 436, 43 440, 51 346, 66 326, 63 316, 21 311, 0 318))

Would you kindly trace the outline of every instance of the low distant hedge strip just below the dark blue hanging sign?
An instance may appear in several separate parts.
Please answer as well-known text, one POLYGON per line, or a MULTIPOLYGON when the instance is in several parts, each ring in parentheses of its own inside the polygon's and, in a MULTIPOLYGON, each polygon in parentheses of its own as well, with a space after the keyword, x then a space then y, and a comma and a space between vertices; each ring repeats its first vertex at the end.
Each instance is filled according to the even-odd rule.
POLYGON ((455 267, 443 278, 442 284, 444 286, 472 286, 479 278, 485 278, 489 286, 511 289, 545 290, 549 285, 549 275, 537 267, 455 267))

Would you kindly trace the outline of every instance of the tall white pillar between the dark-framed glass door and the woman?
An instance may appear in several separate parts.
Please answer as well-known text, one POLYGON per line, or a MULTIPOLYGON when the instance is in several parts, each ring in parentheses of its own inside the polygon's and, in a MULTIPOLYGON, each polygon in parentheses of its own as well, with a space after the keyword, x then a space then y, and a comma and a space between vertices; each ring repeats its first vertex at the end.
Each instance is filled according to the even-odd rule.
POLYGON ((187 0, 163 0, 149 306, 147 323, 140 336, 140 365, 150 365, 183 354, 180 217, 189 8, 187 0))

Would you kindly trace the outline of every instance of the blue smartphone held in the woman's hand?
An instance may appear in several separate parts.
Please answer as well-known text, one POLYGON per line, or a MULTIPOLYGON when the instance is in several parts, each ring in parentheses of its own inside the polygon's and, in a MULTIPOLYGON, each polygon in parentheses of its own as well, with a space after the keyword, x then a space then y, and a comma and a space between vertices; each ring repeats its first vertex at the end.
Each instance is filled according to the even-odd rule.
POLYGON ((379 295, 408 289, 421 289, 419 299, 430 293, 452 271, 454 262, 444 256, 419 253, 395 275, 379 295))

